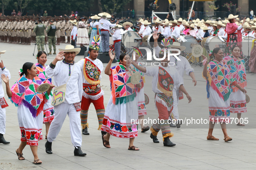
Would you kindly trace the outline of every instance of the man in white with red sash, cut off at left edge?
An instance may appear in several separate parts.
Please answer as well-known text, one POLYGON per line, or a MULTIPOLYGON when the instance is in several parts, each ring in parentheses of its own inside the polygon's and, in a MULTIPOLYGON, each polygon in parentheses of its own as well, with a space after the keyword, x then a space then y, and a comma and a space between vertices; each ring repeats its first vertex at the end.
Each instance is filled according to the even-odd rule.
MULTIPOLYGON (((4 54, 4 52, 0 52, 0 54, 4 54)), ((11 79, 11 74, 8 69, 5 68, 3 65, 3 61, 0 62, 0 74, 4 74, 6 77, 11 79)), ((6 122, 6 109, 5 107, 8 107, 8 104, 6 103, 4 99, 4 91, 3 91, 3 85, 2 85, 2 80, 0 81, 0 143, 3 144, 9 144, 10 142, 7 142, 3 135, 5 134, 5 122, 6 122)))

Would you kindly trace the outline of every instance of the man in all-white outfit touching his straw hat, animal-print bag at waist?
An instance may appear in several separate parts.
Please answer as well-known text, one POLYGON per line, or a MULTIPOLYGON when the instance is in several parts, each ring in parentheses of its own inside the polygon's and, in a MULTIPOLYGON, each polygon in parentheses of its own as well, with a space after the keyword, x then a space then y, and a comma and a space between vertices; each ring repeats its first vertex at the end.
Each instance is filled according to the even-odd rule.
MULTIPOLYGON (((81 135, 81 118, 80 101, 83 94, 83 80, 80 67, 75 64, 74 58, 81 48, 74 48, 73 45, 67 45, 65 49, 59 49, 55 59, 45 69, 45 76, 53 78, 56 86, 66 84, 65 101, 54 106, 54 120, 51 123, 47 142, 45 143, 45 151, 52 154, 52 141, 54 141, 60 132, 65 118, 69 116, 69 126, 72 145, 75 147, 75 156, 85 156, 81 151, 82 135, 81 135), (64 55, 64 59, 63 59, 64 55)), ((63 97, 63 96, 62 96, 63 97)))

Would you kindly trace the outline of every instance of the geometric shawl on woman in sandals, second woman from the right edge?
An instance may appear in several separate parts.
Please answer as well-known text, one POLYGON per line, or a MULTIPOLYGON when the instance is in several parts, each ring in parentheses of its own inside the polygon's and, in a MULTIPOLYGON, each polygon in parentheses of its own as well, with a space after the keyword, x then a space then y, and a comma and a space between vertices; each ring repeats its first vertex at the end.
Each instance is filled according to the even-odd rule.
POLYGON ((213 60, 207 65, 207 71, 207 78, 204 77, 207 80, 207 98, 210 97, 209 88, 211 86, 219 94, 220 98, 227 101, 231 92, 230 86, 236 83, 232 76, 230 76, 227 64, 213 60))

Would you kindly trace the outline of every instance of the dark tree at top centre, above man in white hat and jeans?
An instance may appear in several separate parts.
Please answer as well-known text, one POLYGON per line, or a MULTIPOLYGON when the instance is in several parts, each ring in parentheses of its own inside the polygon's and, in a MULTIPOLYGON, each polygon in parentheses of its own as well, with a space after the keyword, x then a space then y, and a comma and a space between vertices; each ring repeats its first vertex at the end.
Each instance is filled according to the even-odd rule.
POLYGON ((100 6, 103 11, 115 14, 123 10, 124 6, 131 0, 100 0, 100 6))

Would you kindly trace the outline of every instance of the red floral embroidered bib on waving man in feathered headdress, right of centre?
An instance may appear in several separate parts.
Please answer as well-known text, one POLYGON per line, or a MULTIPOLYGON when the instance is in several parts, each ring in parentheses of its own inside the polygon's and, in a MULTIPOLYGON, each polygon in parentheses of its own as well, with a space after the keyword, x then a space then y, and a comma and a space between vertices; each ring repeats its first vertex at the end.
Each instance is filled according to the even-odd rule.
POLYGON ((157 87, 160 91, 162 91, 167 96, 172 96, 173 89, 173 79, 169 75, 169 73, 162 67, 159 67, 158 71, 158 83, 157 87))

